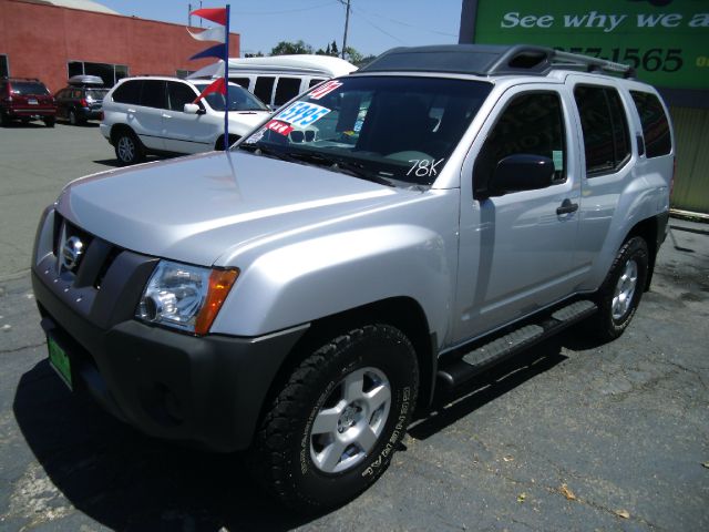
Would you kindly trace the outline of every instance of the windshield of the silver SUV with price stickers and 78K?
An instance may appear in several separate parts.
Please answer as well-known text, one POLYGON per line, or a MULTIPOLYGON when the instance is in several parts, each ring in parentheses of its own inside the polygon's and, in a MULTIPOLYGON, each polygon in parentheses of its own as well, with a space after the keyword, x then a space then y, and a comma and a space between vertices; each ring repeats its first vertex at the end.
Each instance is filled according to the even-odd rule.
POLYGON ((330 80, 239 150, 392 185, 431 185, 487 96, 486 82, 422 76, 330 80))

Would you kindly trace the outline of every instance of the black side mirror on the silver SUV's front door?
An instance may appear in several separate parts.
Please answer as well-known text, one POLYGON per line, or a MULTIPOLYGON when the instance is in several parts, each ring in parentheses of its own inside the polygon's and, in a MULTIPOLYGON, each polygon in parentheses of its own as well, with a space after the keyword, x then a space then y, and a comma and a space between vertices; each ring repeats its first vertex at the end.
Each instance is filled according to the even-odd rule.
POLYGON ((545 188, 553 183, 555 170, 549 157, 526 153, 510 155, 497 163, 487 187, 495 196, 545 188))

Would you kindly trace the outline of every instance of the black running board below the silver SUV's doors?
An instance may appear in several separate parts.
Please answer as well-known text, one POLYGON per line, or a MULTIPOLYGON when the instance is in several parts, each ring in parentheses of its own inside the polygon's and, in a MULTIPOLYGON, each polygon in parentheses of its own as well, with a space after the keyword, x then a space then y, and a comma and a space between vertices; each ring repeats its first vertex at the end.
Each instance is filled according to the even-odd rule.
POLYGON ((525 321, 525 325, 492 340, 482 340, 481 345, 463 356, 449 357, 441 360, 438 377, 440 383, 446 388, 455 388, 472 379, 491 366, 499 364, 513 355, 548 338, 566 327, 587 318, 597 310, 596 304, 580 300, 557 308, 552 314, 543 314, 536 320, 525 321))

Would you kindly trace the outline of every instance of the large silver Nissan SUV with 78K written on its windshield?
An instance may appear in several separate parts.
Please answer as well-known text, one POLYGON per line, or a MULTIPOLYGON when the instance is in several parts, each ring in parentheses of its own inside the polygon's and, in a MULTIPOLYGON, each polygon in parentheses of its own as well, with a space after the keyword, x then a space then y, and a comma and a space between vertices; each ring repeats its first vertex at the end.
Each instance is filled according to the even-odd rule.
POLYGON ((32 264, 50 361, 145 433, 248 450, 285 503, 335 507, 438 389, 580 320, 628 327, 674 160, 625 65, 394 49, 227 153, 69 184, 32 264))

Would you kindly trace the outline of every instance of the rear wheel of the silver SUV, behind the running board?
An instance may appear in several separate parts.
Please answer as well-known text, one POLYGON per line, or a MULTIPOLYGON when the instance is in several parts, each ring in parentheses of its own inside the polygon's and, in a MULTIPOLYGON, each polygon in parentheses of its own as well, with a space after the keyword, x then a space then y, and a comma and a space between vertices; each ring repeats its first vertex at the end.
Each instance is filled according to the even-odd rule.
POLYGON ((598 313, 588 326, 598 340, 614 340, 628 327, 640 304, 647 272, 647 244, 641 237, 634 236, 620 246, 606 279, 596 293, 598 313))

